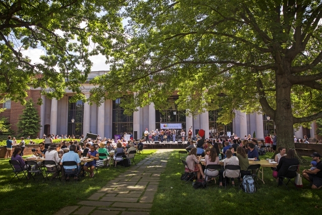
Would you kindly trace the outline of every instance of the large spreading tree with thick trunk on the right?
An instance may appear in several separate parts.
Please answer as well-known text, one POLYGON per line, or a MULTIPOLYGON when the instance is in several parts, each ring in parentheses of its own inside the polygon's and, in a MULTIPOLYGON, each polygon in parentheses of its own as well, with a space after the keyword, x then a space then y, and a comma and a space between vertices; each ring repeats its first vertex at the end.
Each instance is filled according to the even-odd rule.
POLYGON ((161 109, 177 91, 180 109, 220 104, 225 123, 234 109, 263 111, 287 148, 293 125, 322 117, 321 0, 135 0, 125 11, 125 42, 92 80, 93 101, 132 91, 129 110, 161 109))

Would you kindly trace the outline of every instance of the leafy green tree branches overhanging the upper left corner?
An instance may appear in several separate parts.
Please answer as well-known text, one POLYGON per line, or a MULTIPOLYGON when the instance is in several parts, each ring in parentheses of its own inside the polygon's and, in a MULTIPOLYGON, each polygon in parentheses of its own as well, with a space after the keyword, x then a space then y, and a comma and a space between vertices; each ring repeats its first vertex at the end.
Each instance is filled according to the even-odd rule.
POLYGON ((0 100, 25 103, 29 87, 49 98, 65 88, 85 99, 81 83, 91 71, 90 56, 109 55, 122 32, 118 0, 1 0, 0 100), (31 62, 26 50, 42 49, 31 62))

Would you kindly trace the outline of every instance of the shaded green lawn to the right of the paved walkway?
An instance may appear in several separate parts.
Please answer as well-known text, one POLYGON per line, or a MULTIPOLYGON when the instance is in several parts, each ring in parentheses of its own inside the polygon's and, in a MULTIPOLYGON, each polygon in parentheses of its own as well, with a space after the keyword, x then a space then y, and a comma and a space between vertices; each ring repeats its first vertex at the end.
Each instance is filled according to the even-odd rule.
MULTIPOLYGON (((272 156, 260 156, 266 159, 272 156)), ((306 157, 311 160, 310 157, 306 157)), ((264 167, 264 181, 258 181, 260 189, 247 194, 237 187, 219 189, 210 184, 208 189, 195 190, 192 183, 180 180, 183 164, 178 164, 178 152, 169 155, 165 171, 161 175, 158 192, 154 198, 151 215, 308 215, 322 214, 322 190, 311 190, 303 179, 303 188, 297 191, 292 184, 290 190, 277 187, 272 171, 264 167)), ((301 171, 307 166, 301 166, 301 171)), ((218 181, 217 181, 218 182, 218 181)), ((236 183, 235 179, 235 183, 236 183)))

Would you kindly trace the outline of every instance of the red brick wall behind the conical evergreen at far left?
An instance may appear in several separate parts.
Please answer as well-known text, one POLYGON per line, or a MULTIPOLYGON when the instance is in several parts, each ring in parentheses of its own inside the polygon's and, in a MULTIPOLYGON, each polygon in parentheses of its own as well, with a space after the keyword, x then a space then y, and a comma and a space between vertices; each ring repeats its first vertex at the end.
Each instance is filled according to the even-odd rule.
MULTIPOLYGON (((40 105, 37 105, 37 101, 39 98, 41 98, 40 90, 27 90, 26 91, 28 96, 26 100, 29 100, 30 98, 35 103, 35 108, 38 111, 38 115, 40 117, 40 105)), ((0 104, 0 108, 2 108, 3 104, 0 104)), ((11 109, 6 109, 4 112, 0 113, 0 117, 7 117, 9 123, 11 124, 11 129, 15 131, 15 134, 17 134, 18 128, 17 123, 19 121, 19 116, 22 114, 22 111, 24 109, 24 106, 21 105, 20 102, 13 102, 11 101, 11 109)), ((38 137, 40 137, 40 134, 38 134, 38 137)))

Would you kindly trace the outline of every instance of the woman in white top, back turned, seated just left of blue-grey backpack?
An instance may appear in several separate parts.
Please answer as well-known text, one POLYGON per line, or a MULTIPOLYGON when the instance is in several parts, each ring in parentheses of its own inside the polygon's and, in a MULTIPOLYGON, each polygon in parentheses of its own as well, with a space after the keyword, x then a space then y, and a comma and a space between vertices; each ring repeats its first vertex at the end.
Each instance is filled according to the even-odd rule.
MULTIPOLYGON (((223 167, 225 167, 226 165, 239 165, 238 158, 236 156, 232 156, 232 152, 230 149, 226 150, 226 155, 227 155, 227 158, 224 159, 224 161, 223 161, 223 167)), ((239 177, 239 170, 221 169, 219 171, 219 187, 222 186, 222 181, 223 181, 223 178, 225 178, 225 177, 231 178, 231 185, 235 186, 234 178, 239 177)), ((228 179, 228 181, 229 181, 229 179, 228 179)))

